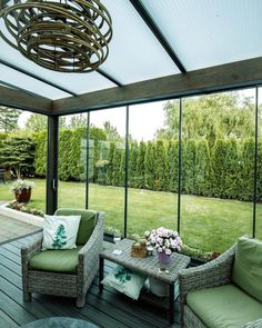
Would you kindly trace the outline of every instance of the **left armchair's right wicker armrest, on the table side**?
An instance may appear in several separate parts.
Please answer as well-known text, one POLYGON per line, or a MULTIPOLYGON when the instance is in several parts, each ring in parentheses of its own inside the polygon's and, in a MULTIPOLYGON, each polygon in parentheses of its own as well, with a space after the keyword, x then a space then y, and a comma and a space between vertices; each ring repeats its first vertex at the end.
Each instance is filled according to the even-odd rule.
POLYGON ((78 277, 80 285, 83 284, 84 278, 90 276, 90 272, 97 270, 99 262, 99 252, 103 247, 103 220, 104 213, 99 212, 98 221, 88 242, 80 249, 78 254, 78 277))

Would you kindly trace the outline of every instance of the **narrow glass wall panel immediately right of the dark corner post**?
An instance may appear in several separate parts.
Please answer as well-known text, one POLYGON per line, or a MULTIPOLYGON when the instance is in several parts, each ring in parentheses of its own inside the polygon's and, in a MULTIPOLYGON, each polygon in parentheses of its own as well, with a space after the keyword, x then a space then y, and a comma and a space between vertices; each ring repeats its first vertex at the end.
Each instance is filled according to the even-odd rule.
POLYGON ((85 208, 87 125, 87 113, 59 118, 59 208, 85 208))

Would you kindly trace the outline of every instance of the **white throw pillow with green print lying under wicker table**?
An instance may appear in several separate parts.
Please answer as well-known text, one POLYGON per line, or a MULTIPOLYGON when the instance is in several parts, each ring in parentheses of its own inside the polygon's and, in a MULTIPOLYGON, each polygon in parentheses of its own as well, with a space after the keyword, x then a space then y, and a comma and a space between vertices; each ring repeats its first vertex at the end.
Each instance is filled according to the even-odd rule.
POLYGON ((102 284, 113 287, 132 299, 138 299, 145 279, 145 277, 139 274, 134 274, 122 266, 118 266, 102 280, 102 284))

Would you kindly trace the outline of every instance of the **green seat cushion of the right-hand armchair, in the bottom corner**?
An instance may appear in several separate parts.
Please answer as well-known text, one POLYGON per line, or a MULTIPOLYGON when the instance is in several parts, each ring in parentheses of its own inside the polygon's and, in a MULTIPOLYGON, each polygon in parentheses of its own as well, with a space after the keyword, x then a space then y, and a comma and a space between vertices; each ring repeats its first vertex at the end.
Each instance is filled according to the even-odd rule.
POLYGON ((262 314, 262 304, 235 285, 190 291, 187 304, 212 328, 239 328, 261 318, 262 314))

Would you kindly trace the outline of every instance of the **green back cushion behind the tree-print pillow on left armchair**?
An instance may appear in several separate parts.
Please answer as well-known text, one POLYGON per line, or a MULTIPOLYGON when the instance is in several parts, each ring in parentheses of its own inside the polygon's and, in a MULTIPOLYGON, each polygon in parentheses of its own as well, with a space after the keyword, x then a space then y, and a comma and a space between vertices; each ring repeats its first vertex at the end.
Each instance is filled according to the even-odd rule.
POLYGON ((97 223, 97 212, 91 210, 61 208, 56 211, 57 216, 81 216, 77 245, 84 245, 93 232, 97 223))

